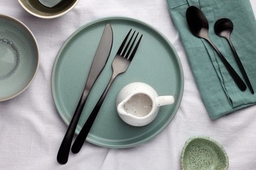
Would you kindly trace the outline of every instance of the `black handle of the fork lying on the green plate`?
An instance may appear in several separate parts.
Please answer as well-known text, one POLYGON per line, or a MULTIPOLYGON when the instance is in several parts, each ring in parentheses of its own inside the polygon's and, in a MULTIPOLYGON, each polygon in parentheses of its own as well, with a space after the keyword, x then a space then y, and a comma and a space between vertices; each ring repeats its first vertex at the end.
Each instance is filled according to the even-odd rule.
POLYGON ((113 74, 112 77, 110 78, 110 81, 108 82, 108 86, 106 86, 106 89, 100 96, 100 99, 98 99, 98 102, 96 103, 95 108, 93 109, 89 118, 87 119, 87 121, 83 125, 81 131, 77 135, 77 138, 75 139, 74 144, 72 145, 72 148, 71 148, 71 150, 74 154, 77 154, 81 150, 83 143, 85 143, 85 139, 87 138, 87 135, 88 135, 91 127, 93 126, 93 122, 95 122, 95 118, 98 115, 98 111, 100 110, 100 107, 106 97, 106 94, 108 93, 108 90, 110 89, 110 86, 111 86, 112 82, 114 81, 114 79, 116 78, 116 76, 117 75, 113 74))

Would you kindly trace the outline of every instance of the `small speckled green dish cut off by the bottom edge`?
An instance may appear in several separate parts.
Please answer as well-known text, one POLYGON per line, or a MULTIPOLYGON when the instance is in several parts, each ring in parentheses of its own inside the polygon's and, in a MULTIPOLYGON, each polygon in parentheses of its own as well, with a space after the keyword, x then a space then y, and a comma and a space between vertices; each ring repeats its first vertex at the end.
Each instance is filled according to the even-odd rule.
POLYGON ((223 146, 210 137, 191 137, 182 149, 181 167, 184 170, 224 170, 228 169, 228 156, 223 146))

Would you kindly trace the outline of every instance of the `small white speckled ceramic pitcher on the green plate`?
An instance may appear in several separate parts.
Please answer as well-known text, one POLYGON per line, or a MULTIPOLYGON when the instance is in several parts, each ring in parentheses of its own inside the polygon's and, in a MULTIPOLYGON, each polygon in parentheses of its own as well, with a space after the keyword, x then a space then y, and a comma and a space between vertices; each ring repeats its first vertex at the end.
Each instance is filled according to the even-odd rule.
POLYGON ((142 82, 133 82, 123 87, 116 99, 120 118, 131 126, 145 126, 156 118, 160 106, 174 103, 172 95, 158 93, 142 82))

